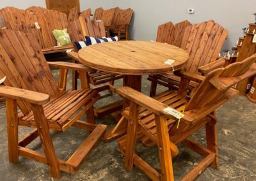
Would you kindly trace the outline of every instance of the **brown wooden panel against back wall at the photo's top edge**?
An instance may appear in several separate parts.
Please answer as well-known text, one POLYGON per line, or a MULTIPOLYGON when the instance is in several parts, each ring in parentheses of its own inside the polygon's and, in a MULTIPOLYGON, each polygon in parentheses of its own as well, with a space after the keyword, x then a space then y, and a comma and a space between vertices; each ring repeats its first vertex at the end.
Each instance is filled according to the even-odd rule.
POLYGON ((56 10, 65 13, 67 16, 72 8, 77 8, 80 12, 79 0, 45 0, 46 8, 49 10, 56 10))

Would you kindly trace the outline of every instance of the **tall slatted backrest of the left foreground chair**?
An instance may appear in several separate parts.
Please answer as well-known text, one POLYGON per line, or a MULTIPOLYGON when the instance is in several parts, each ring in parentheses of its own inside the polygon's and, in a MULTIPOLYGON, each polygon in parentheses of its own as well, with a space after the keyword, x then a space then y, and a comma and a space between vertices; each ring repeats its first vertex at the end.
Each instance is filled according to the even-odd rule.
MULTIPOLYGON (((4 85, 42 92, 54 96, 59 93, 51 69, 32 34, 0 29, 0 74, 6 76, 4 85)), ((19 101, 24 115, 31 109, 19 101)))

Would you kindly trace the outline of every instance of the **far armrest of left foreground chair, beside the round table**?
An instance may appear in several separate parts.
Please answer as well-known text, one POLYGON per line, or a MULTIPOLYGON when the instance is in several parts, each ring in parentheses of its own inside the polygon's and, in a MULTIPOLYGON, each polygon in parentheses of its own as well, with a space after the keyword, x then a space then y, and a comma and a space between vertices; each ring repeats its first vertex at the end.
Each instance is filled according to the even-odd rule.
POLYGON ((88 66, 84 66, 83 64, 74 64, 70 62, 48 62, 49 66, 55 68, 63 68, 63 69, 72 69, 76 71, 84 71, 90 72, 93 71, 92 68, 88 68, 88 66))

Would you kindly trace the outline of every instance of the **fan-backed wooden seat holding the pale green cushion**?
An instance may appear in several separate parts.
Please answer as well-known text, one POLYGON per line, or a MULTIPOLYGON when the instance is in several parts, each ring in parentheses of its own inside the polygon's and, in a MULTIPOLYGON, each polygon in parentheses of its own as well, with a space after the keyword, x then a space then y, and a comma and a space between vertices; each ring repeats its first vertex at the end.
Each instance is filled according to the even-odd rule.
POLYGON ((55 10, 47 10, 42 7, 31 6, 27 11, 33 12, 40 25, 42 37, 44 41, 44 47, 42 52, 44 54, 52 54, 57 52, 65 52, 72 48, 72 45, 65 45, 56 47, 57 42, 52 34, 54 29, 65 29, 68 26, 67 15, 55 10))

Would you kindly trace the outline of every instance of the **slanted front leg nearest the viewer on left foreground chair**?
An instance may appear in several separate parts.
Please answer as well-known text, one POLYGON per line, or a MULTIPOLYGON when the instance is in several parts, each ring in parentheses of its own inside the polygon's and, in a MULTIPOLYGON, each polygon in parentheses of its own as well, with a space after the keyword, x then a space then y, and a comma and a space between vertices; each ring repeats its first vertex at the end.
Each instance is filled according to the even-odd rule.
POLYGON ((60 166, 54 151, 48 122, 44 116, 44 110, 42 106, 39 105, 32 105, 31 108, 34 113, 36 127, 40 136, 42 147, 44 149, 47 163, 49 164, 51 176, 53 178, 61 178, 60 166))

